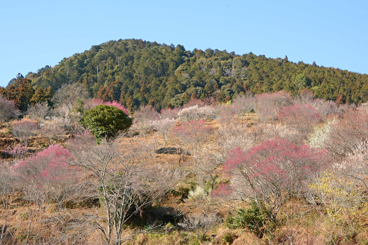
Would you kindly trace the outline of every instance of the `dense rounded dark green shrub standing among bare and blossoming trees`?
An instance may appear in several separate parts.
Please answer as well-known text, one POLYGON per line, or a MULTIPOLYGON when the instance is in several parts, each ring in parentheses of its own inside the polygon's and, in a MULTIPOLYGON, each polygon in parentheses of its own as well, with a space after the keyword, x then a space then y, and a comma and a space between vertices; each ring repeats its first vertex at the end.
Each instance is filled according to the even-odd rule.
POLYGON ((126 131, 133 119, 124 111, 114 107, 100 105, 85 111, 84 125, 90 129, 97 139, 116 137, 120 131, 126 131))

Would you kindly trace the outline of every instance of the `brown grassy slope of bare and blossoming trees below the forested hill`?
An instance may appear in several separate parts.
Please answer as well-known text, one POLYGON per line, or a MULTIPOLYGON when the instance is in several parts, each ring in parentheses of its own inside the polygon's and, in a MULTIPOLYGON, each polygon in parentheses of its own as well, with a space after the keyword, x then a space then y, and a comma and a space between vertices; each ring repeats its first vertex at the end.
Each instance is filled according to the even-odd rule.
POLYGON ((368 103, 129 112, 78 83, 28 105, 51 96, 30 82, 0 95, 0 244, 367 244, 368 103))

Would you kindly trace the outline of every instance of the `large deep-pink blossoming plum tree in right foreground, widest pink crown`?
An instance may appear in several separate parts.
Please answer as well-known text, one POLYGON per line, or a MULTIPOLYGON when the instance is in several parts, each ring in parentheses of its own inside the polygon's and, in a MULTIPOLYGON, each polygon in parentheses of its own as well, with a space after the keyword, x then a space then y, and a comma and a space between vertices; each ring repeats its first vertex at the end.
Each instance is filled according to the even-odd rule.
POLYGON ((326 162, 328 158, 323 151, 273 139, 247 152, 237 148, 231 150, 224 170, 233 177, 232 194, 244 201, 257 202, 275 222, 280 207, 291 194, 301 193, 326 162))

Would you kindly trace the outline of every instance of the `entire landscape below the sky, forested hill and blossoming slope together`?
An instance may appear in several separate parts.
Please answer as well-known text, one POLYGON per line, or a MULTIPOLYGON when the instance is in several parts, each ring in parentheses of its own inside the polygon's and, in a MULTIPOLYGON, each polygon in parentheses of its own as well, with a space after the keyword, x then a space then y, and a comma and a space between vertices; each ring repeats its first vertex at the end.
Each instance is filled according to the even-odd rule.
POLYGON ((368 75, 109 41, 0 87, 0 245, 367 244, 368 75))

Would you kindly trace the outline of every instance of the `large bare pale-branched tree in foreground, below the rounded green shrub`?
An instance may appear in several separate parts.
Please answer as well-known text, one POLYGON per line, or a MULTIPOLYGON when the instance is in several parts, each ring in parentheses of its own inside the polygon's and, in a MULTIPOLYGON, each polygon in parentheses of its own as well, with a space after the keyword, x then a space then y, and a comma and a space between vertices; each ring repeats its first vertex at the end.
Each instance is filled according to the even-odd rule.
POLYGON ((70 142, 70 164, 91 176, 89 185, 103 199, 103 214, 92 214, 95 229, 102 232, 106 244, 119 245, 124 225, 134 214, 141 214, 152 202, 149 185, 149 161, 142 142, 124 142, 122 137, 95 145, 92 137, 70 142))

